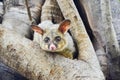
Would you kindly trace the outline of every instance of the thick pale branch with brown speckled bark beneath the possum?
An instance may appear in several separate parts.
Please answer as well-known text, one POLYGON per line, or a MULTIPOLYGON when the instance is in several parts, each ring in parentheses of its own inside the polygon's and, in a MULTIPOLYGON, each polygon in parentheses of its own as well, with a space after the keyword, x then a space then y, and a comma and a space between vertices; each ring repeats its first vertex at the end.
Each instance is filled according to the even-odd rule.
POLYGON ((3 28, 0 60, 30 80, 104 80, 101 71, 87 62, 45 53, 32 41, 3 28))

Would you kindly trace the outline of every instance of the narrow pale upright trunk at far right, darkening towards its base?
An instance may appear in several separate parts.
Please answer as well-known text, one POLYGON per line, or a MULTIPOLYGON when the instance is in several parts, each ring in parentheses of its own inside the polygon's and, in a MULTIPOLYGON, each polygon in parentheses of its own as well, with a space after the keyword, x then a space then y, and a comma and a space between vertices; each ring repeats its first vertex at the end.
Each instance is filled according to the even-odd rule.
POLYGON ((110 0, 101 0, 102 21, 105 29, 106 51, 112 58, 120 56, 116 32, 112 24, 110 0))

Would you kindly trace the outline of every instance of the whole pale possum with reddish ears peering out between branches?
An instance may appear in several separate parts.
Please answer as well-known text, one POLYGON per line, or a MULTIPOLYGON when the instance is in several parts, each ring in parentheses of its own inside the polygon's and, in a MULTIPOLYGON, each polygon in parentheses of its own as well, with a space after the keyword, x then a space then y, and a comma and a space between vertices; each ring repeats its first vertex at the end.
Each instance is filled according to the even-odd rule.
POLYGON ((60 24, 53 24, 51 21, 43 21, 39 25, 32 25, 35 31, 34 41, 48 52, 59 53, 67 58, 73 59, 75 52, 72 37, 68 33, 70 20, 64 20, 60 24))

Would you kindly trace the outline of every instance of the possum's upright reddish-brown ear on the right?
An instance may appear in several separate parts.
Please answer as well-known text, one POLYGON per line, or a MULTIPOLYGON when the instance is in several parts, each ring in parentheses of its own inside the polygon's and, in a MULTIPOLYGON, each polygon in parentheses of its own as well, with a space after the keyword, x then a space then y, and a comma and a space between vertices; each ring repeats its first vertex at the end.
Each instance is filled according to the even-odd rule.
POLYGON ((70 29, 70 23, 71 21, 69 19, 64 20, 63 22, 61 22, 58 30, 63 34, 66 33, 70 29))

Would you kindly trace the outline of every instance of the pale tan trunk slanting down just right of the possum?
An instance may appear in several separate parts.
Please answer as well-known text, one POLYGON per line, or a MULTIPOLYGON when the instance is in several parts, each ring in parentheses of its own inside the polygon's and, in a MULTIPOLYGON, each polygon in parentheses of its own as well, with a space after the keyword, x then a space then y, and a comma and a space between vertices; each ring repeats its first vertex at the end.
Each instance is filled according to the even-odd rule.
POLYGON ((93 69, 100 70, 100 65, 83 22, 72 0, 57 0, 65 18, 71 20, 71 33, 79 49, 79 59, 86 61, 93 69), (69 11, 67 11, 69 9, 69 11))

